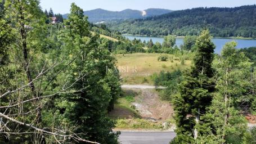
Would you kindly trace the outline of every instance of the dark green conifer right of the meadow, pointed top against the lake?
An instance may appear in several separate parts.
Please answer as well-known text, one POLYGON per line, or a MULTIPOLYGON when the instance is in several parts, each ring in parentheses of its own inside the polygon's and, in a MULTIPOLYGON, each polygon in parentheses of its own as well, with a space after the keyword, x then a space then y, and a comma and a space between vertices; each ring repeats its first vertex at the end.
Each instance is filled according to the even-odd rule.
POLYGON ((179 94, 174 97, 177 137, 172 143, 191 143, 196 140, 201 129, 200 117, 212 101, 214 83, 212 80, 214 44, 209 30, 203 30, 196 40, 194 66, 185 71, 179 84, 179 94), (194 139, 193 139, 194 137, 194 139))

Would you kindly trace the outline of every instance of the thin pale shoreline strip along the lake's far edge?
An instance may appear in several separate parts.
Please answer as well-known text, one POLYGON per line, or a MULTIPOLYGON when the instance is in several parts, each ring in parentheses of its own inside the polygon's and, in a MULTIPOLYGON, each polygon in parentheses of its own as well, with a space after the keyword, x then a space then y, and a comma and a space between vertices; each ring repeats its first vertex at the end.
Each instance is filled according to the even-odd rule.
MULTIPOLYGON (((135 37, 152 37, 152 38, 163 38, 165 35, 159 35, 159 36, 147 36, 147 35, 133 35, 133 34, 122 34, 122 35, 128 35, 128 36, 135 36, 135 37)), ((185 38, 185 36, 177 36, 174 35, 176 38, 185 38)), ((248 39, 248 40, 255 40, 256 38, 245 38, 245 37, 213 37, 213 38, 223 38, 223 39, 248 39)))

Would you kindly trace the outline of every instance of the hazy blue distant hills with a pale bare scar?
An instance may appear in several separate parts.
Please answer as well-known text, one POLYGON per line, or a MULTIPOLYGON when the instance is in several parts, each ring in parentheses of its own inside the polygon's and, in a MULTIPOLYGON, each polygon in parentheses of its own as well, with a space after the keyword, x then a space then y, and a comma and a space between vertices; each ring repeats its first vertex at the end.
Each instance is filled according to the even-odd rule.
MULTIPOLYGON (((144 11, 126 9, 123 11, 107 11, 101 8, 84 11, 84 15, 89 17, 90 22, 101 22, 111 20, 124 20, 124 19, 140 19, 143 17, 157 16, 165 13, 172 12, 160 8, 150 8, 144 11)), ((68 14, 63 15, 64 19, 68 18, 68 14)))

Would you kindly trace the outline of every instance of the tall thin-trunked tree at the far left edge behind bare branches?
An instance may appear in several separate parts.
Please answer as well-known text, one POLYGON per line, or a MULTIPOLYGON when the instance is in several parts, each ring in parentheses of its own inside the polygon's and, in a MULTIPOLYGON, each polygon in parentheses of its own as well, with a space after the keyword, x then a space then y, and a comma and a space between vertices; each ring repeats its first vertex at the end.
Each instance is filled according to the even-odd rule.
MULTIPOLYGON (((2 3, 3 1, 1 1, 2 3)), ((5 50, 8 50, 9 54, 12 57, 12 67, 10 71, 5 70, 8 75, 6 75, 6 78, 11 82, 9 88, 19 88, 20 84, 18 83, 29 83, 28 87, 21 88, 20 91, 24 91, 23 95, 19 95, 19 93, 15 93, 14 95, 8 95, 5 100, 13 102, 20 101, 19 98, 22 96, 23 100, 29 100, 29 105, 24 104, 23 107, 20 109, 20 111, 30 111, 34 109, 34 113, 31 113, 30 116, 24 116, 22 118, 22 121, 24 123, 30 123, 31 125, 35 125, 37 128, 42 128, 42 113, 41 113, 41 103, 38 100, 39 91, 37 91, 37 84, 35 83, 35 77, 38 74, 38 69, 42 68, 40 64, 40 61, 37 61, 37 57, 33 57, 32 53, 34 55, 37 55, 38 57, 41 56, 41 40, 44 39, 46 35, 43 32, 44 29, 44 22, 45 19, 43 17, 43 13, 39 7, 39 1, 33 0, 33 1, 5 1, 5 8, 3 9, 6 12, 6 18, 8 20, 8 23, 10 25, 8 26, 7 22, 3 27, 4 30, 1 30, 1 36, 3 40, 5 40, 5 37, 8 37, 8 35, 13 35, 12 39, 9 39, 8 42, 15 42, 11 43, 11 46, 8 48, 8 46, 5 44, 3 45, 5 48, 3 48, 3 52, 5 50), (7 28, 9 27, 9 28, 7 28), (9 30, 8 34, 5 33, 5 30, 9 30), (3 33, 2 33, 3 32, 3 33), (11 53, 10 53, 11 52, 11 53), (38 65, 37 65, 38 64, 38 65), (37 66, 36 66, 37 65, 37 66), (10 75, 11 74, 11 75, 10 75), (15 78, 14 78, 15 77, 15 78), (14 84, 17 83, 17 84, 14 84), (31 98, 34 100, 31 101, 31 98), (33 118, 32 118, 33 117, 33 118)), ((2 17, 1 17, 2 18, 2 17)), ((3 19, 1 19, 1 23, 4 22, 3 19)), ((2 41, 1 38, 1 41, 2 41)), ((2 41, 4 42, 4 41, 2 41)), ((40 59, 40 58, 39 58, 40 59)), ((9 89, 8 88, 8 89, 9 89)), ((8 89, 3 89, 3 91, 8 91, 8 89)), ((21 102, 21 101, 20 101, 21 102)), ((2 104, 1 104, 2 105, 2 104)), ((5 110, 5 109, 1 109, 5 110)), ((8 109, 6 109, 8 110, 8 109)), ((8 110, 12 113, 14 113, 14 119, 21 120, 21 116, 17 114, 17 111, 19 109, 16 109, 16 107, 12 107, 11 110, 8 110)), ((23 112, 22 112, 23 113, 23 112)), ((14 124, 14 122, 11 122, 14 124)), ((25 124, 24 124, 25 125, 25 124)), ((45 137, 42 133, 38 133, 35 129, 32 129, 31 131, 33 134, 24 134, 24 137, 19 137, 19 131, 29 131, 28 127, 10 127, 12 132, 16 132, 17 136, 10 136, 10 140, 8 142, 13 141, 33 141, 33 142, 39 142, 40 143, 46 143, 45 137)), ((7 138, 7 137, 6 137, 7 138)))

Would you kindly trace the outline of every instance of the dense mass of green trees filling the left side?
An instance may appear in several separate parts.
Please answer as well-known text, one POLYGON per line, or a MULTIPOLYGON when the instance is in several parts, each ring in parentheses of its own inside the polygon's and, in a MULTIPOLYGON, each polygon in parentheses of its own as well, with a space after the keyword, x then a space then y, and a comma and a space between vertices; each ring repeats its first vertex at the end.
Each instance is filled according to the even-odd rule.
POLYGON ((83 10, 52 25, 38 0, 0 0, 0 19, 0 143, 118 143, 116 60, 83 10))

